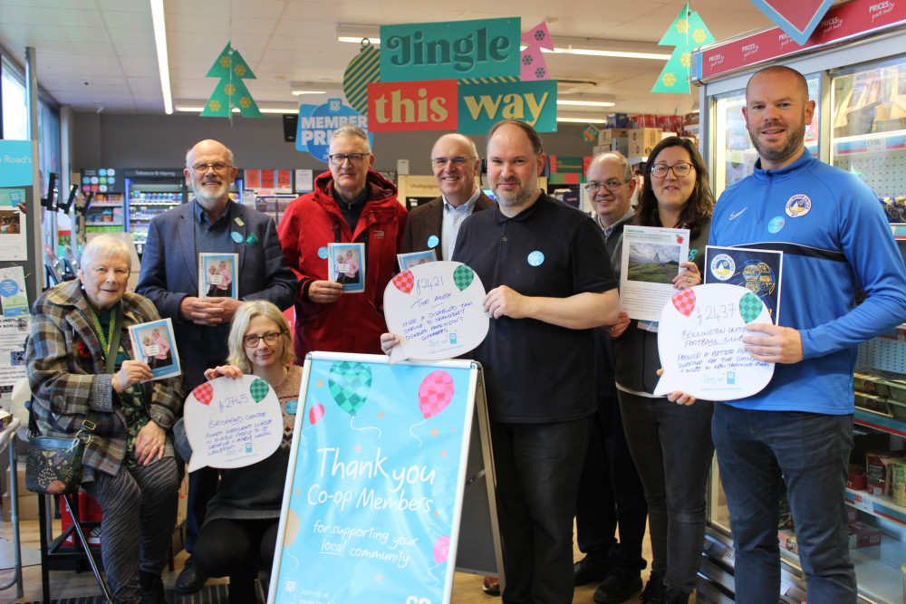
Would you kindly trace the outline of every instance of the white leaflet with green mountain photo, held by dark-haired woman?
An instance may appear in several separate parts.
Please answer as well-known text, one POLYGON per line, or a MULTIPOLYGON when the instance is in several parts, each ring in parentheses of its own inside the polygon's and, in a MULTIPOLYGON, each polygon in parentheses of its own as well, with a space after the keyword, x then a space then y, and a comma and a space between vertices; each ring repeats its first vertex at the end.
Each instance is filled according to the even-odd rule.
POLYGON ((658 321, 677 292, 673 277, 689 258, 689 229, 626 226, 620 271, 620 310, 631 319, 658 321))

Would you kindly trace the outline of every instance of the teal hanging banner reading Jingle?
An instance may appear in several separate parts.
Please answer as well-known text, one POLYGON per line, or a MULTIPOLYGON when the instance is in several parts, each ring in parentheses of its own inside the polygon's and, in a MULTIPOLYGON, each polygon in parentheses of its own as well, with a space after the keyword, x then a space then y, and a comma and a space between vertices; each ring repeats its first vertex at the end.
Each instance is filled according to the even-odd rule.
POLYGON ((381 81, 519 73, 521 19, 381 25, 381 81))

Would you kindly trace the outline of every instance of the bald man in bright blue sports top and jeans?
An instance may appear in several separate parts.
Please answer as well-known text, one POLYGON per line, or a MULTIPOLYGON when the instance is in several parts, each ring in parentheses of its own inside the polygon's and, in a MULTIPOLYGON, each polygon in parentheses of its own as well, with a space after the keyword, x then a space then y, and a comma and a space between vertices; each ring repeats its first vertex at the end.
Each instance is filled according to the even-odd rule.
POLYGON ((780 324, 752 324, 776 363, 758 394, 714 406, 712 433, 736 547, 737 602, 777 601, 781 479, 810 602, 855 602, 844 488, 857 345, 906 319, 906 270, 882 207, 857 177, 805 150, 814 101, 783 66, 748 81, 755 173, 718 200, 710 244, 784 252, 780 324), (855 303, 862 289, 867 298, 855 303))

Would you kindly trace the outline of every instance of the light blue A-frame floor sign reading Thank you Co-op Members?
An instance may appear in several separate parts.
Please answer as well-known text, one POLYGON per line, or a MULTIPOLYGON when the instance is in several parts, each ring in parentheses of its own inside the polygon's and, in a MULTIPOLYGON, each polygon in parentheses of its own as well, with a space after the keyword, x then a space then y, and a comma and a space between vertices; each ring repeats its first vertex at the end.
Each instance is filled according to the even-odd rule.
POLYGON ((441 604, 454 570, 503 580, 478 363, 314 352, 302 382, 268 604, 441 604))

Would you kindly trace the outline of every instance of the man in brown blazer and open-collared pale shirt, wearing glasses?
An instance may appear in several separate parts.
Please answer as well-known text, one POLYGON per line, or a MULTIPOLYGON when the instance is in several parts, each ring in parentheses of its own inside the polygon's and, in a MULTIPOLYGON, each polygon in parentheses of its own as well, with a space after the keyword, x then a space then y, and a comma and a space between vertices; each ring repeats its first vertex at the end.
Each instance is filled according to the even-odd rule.
POLYGON ((462 221, 472 212, 494 206, 475 183, 480 163, 475 143, 461 134, 445 134, 434 143, 431 166, 441 196, 409 213, 403 254, 433 249, 438 260, 453 257, 462 221))

